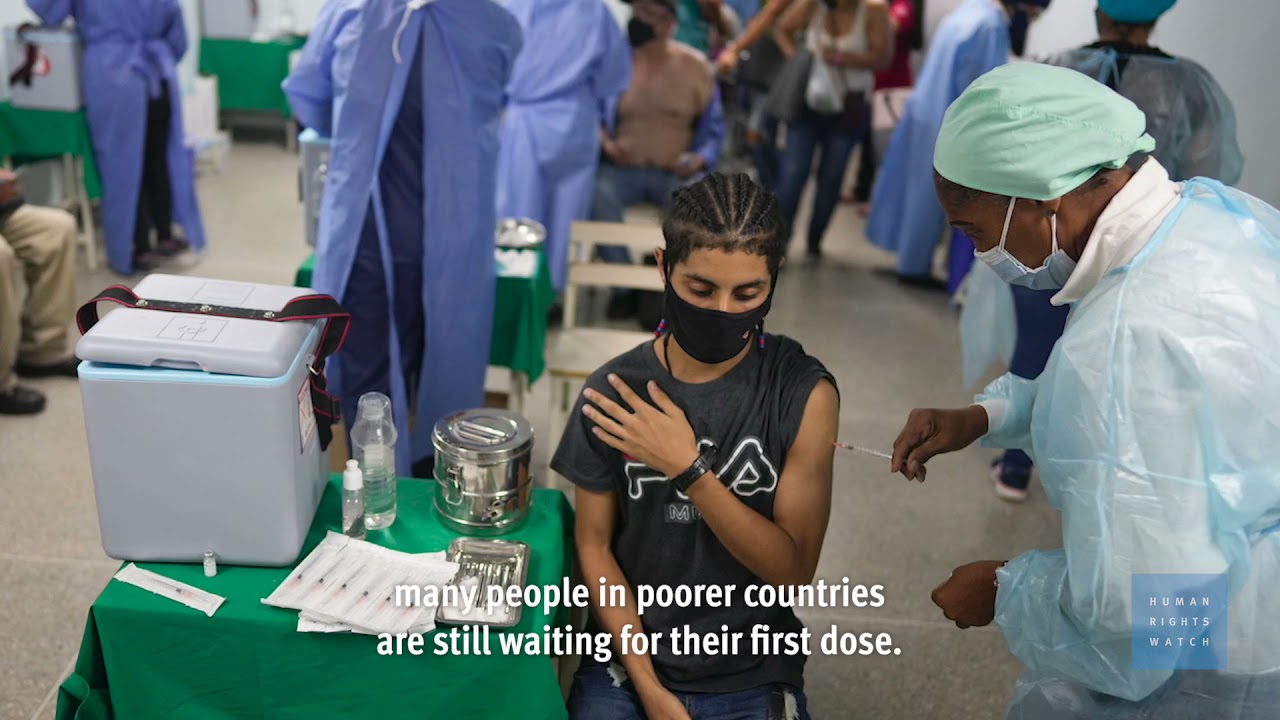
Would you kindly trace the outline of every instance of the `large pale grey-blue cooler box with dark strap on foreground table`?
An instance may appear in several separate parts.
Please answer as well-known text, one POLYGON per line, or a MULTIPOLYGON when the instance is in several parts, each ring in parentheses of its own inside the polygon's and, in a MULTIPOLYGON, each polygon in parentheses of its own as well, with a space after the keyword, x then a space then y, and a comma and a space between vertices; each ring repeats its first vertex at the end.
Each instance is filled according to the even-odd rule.
MULTIPOLYGON (((113 291, 128 293, 104 295, 113 291)), ((329 477, 311 397, 326 322, 218 313, 275 316, 312 295, 155 274, 133 288, 142 300, 84 332, 76 352, 109 556, 198 562, 212 551, 225 565, 297 560, 329 477), (198 310, 147 309, 165 305, 198 310)))

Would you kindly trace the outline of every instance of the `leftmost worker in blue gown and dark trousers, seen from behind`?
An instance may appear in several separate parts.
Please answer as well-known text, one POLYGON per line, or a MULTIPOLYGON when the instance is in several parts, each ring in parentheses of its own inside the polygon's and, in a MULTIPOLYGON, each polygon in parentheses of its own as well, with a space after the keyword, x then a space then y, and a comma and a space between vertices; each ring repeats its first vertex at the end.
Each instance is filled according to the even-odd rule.
POLYGON ((187 29, 178 0, 27 0, 27 6, 46 26, 74 18, 83 44, 81 86, 111 269, 150 270, 161 255, 204 250, 196 165, 182 133, 177 65, 187 53, 187 29))

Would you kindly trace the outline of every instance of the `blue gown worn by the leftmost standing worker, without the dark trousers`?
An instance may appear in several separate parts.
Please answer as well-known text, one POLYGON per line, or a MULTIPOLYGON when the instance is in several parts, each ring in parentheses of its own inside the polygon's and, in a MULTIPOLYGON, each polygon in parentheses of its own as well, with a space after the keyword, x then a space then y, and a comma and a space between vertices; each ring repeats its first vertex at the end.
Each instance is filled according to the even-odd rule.
POLYGON ((205 247, 196 201, 195 158, 183 141, 178 60, 187 53, 187 29, 178 0, 27 0, 40 20, 60 26, 76 19, 84 45, 81 81, 93 158, 102 177, 102 236, 106 261, 133 273, 133 225, 142 190, 142 149, 147 101, 168 83, 173 105, 169 127, 169 179, 173 219, 192 250, 205 247))

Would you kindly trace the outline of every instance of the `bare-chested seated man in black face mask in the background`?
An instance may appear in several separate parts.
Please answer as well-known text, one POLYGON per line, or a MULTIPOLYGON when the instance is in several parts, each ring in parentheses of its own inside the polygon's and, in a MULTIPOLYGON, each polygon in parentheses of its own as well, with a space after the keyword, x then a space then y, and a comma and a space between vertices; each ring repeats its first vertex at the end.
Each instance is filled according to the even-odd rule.
MULTIPOLYGON (((710 63, 672 38, 676 0, 634 0, 631 9, 631 86, 600 129, 593 220, 621 223, 630 205, 666 205, 673 190, 714 169, 724 136, 710 63)), ((607 261, 628 261, 626 249, 600 250, 607 261)))

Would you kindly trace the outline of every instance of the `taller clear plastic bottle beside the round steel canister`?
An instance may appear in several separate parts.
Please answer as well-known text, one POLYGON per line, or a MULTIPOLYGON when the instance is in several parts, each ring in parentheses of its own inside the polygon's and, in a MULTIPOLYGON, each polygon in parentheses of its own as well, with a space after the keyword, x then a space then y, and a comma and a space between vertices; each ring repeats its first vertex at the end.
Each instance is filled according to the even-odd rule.
POLYGON ((380 392, 360 397, 360 419, 351 443, 364 474, 365 528, 380 530, 396 521, 396 423, 392 401, 380 392))

